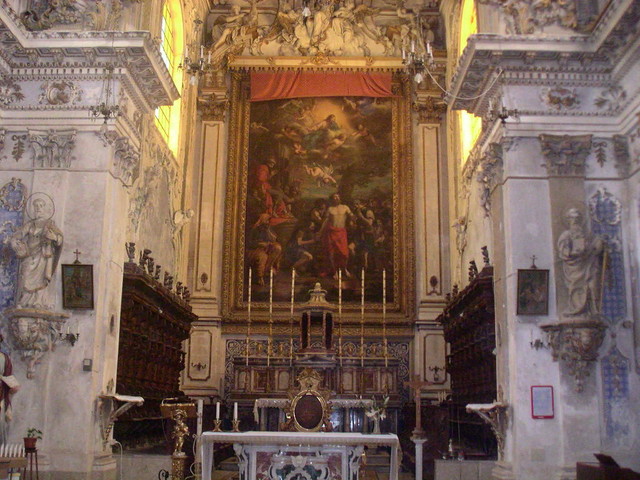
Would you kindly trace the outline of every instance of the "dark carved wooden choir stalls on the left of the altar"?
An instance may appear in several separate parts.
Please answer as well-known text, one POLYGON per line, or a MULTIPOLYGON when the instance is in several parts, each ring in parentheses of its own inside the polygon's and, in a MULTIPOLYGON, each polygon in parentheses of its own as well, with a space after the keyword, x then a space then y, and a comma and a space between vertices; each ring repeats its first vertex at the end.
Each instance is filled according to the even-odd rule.
POLYGON ((116 422, 115 436, 125 447, 164 443, 160 402, 182 395, 182 342, 197 319, 183 299, 125 263, 116 391, 145 399, 116 422))

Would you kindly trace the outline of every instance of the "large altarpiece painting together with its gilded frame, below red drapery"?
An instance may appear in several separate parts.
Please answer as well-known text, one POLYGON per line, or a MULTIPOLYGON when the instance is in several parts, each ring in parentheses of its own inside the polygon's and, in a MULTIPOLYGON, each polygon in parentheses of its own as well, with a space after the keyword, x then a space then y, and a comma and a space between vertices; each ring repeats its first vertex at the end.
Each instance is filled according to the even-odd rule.
POLYGON ((316 282, 337 303, 340 276, 345 316, 359 312, 363 283, 368 315, 380 316, 384 283, 388 318, 410 316, 415 289, 410 117, 404 84, 394 81, 393 87, 397 94, 386 98, 250 102, 246 77, 236 79, 225 318, 246 316, 249 284, 258 317, 272 295, 274 311, 288 319, 284 312, 292 290, 296 303, 306 302, 316 282))

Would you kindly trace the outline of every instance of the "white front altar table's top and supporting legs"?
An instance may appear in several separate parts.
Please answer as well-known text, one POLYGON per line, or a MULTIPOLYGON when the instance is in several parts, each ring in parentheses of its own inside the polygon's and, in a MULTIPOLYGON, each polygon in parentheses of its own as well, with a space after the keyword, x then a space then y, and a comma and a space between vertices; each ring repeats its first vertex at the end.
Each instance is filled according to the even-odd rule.
POLYGON ((400 441, 397 435, 391 433, 367 435, 344 432, 204 432, 200 447, 203 480, 211 480, 214 443, 234 444, 234 450, 239 457, 238 468, 240 469, 241 480, 254 480, 256 478, 258 451, 276 454, 283 446, 299 447, 301 450, 305 449, 307 451, 314 446, 322 447, 323 451, 330 451, 332 447, 335 447, 334 450, 337 453, 343 454, 343 480, 353 480, 358 477, 354 471, 356 465, 352 462, 353 459, 348 458, 349 452, 353 452, 354 449, 365 445, 387 446, 391 447, 389 480, 398 480, 398 449, 400 441))

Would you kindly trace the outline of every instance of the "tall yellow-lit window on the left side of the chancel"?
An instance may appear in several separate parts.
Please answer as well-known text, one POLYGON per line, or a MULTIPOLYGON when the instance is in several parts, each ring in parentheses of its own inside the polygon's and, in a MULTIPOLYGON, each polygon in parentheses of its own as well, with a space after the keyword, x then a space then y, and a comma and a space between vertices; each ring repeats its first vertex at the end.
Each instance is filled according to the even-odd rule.
MULTIPOLYGON (((162 6, 160 38, 162 40, 160 54, 173 82, 181 91, 182 70, 179 65, 183 56, 184 32, 180 0, 165 0, 162 6)), ((156 126, 174 154, 178 150, 180 135, 180 104, 180 99, 178 99, 173 102, 173 105, 165 105, 156 109, 156 126)))

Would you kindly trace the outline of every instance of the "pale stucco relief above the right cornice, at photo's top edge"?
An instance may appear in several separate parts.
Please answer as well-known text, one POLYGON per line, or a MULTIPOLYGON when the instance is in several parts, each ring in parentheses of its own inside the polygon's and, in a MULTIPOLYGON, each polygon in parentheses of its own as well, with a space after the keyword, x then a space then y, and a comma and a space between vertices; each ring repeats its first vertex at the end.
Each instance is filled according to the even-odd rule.
POLYGON ((540 32, 550 25, 572 30, 578 27, 575 0, 479 0, 479 3, 500 7, 510 34, 540 32))

